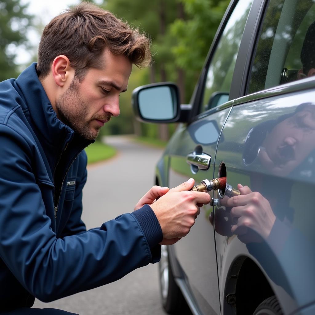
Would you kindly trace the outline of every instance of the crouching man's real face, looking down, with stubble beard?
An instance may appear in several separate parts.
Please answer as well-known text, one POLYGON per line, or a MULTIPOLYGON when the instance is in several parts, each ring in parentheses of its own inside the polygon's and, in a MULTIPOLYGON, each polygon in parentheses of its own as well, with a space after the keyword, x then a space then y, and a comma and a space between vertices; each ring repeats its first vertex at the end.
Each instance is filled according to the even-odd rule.
POLYGON ((132 64, 125 56, 105 49, 102 69, 89 69, 80 82, 73 78, 56 100, 60 120, 87 140, 97 137, 111 116, 119 115, 119 94, 126 91, 132 64))

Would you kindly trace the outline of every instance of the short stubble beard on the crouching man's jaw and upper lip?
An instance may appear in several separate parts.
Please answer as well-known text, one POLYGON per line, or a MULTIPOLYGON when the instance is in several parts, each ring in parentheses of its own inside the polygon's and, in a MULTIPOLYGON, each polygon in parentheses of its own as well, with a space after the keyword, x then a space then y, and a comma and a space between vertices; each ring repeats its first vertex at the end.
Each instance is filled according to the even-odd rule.
POLYGON ((90 120, 86 120, 89 115, 89 104, 82 100, 79 92, 78 80, 74 78, 69 88, 56 100, 56 109, 59 119, 74 130, 85 140, 94 140, 102 128, 101 126, 91 127, 90 123, 94 119, 111 119, 109 113, 103 115, 95 114, 90 120))

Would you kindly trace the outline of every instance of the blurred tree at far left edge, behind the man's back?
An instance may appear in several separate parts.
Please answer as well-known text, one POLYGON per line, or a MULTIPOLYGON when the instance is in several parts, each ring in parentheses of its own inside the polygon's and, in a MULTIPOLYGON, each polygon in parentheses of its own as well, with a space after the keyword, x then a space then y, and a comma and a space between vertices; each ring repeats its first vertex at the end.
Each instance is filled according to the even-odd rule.
POLYGON ((14 59, 17 47, 26 43, 32 19, 25 13, 26 8, 19 0, 0 0, 0 81, 18 75, 14 59))

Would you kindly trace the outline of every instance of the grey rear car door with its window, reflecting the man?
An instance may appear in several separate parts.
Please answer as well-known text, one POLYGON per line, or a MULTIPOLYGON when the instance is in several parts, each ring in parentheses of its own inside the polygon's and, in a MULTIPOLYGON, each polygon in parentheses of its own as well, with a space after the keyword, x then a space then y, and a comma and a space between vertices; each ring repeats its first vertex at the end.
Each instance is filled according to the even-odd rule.
MULTIPOLYGON (((259 266, 285 314, 315 300, 314 21, 313 1, 268 2, 245 96, 234 101, 222 130, 214 175, 226 175, 247 196, 233 208, 225 191, 215 192, 220 296, 236 296, 225 312, 239 301, 235 281, 244 259, 259 266)), ((251 278, 247 289, 257 296, 251 278)))

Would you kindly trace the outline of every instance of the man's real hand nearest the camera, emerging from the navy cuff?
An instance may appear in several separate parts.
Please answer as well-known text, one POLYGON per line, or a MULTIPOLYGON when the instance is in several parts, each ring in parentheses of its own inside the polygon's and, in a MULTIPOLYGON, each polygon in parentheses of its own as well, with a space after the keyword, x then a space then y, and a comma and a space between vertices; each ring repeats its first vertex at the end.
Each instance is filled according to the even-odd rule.
POLYGON ((150 205, 162 228, 162 245, 174 244, 186 236, 200 213, 199 206, 210 202, 208 193, 189 191, 194 182, 191 178, 150 205))

